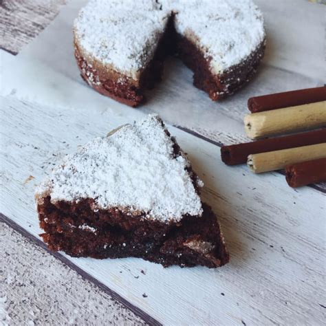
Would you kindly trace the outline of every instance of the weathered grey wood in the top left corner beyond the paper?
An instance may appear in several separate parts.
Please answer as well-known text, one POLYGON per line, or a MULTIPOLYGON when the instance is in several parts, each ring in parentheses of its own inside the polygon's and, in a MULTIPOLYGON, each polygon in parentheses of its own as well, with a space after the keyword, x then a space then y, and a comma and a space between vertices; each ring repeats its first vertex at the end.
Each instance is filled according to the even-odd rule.
POLYGON ((17 54, 56 17, 66 0, 1 0, 0 48, 17 54))

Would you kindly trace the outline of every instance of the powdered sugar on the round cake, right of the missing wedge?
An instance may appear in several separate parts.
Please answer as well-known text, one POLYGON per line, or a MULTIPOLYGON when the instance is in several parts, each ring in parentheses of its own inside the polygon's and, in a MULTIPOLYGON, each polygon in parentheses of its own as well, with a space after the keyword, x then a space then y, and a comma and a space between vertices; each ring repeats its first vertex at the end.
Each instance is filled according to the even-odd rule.
POLYGON ((177 12, 177 32, 202 49, 215 74, 241 63, 265 38, 263 16, 251 0, 161 1, 177 12))

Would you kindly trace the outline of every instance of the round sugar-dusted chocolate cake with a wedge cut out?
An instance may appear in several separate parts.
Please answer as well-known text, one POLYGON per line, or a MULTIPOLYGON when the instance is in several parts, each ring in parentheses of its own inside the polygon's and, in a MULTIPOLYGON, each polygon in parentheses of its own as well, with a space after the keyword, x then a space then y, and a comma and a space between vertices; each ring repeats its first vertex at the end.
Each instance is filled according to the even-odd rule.
POLYGON ((212 100, 248 82, 263 57, 263 17, 251 0, 90 0, 74 23, 81 76, 135 107, 175 54, 212 100))

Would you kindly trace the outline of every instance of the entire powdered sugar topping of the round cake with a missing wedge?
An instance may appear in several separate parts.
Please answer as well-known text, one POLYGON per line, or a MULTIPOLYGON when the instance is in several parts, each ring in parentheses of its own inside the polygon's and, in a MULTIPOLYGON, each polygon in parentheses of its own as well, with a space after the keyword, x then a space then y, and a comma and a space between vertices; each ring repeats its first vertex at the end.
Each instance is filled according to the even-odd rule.
POLYGON ((215 74, 241 63, 265 39, 252 0, 90 0, 75 35, 89 56, 138 79, 172 13, 177 32, 201 48, 215 74))

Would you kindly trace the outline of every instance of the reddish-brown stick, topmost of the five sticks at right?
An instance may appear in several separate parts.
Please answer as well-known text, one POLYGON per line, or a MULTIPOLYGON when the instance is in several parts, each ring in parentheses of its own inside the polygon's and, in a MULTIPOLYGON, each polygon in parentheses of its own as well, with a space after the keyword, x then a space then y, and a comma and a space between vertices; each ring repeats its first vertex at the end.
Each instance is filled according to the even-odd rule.
POLYGON ((255 96, 249 98, 248 109, 252 113, 280 109, 281 107, 294 107, 307 103, 326 100, 326 87, 298 89, 282 93, 255 96))

